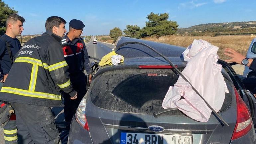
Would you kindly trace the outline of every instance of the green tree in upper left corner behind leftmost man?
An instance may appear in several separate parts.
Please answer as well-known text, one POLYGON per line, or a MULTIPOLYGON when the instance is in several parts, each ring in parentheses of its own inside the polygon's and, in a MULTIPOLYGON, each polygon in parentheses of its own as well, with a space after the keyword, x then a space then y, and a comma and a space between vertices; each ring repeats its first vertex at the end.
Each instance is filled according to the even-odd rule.
POLYGON ((4 34, 6 31, 5 23, 7 16, 13 13, 18 13, 14 8, 10 8, 2 0, 0 0, 0 35, 4 34))

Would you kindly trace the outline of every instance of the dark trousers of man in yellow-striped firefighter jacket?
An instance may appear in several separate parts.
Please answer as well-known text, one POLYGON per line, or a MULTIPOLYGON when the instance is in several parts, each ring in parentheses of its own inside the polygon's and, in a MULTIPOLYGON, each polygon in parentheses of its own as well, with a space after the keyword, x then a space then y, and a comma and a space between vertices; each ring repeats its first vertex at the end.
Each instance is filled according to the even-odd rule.
POLYGON ((11 103, 16 114, 18 144, 58 144, 59 131, 50 107, 11 103))

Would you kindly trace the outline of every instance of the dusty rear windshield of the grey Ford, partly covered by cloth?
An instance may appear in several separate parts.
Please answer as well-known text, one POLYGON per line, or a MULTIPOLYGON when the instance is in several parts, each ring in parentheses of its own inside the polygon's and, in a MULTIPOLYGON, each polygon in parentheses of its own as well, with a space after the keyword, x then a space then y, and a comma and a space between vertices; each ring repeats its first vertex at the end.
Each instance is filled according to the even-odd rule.
MULTIPOLYGON (((162 110, 162 102, 178 75, 171 69, 126 69, 108 71, 98 75, 91 85, 90 96, 97 107, 141 114, 162 110)), ((231 105, 232 84, 226 80, 230 93, 226 93, 220 111, 231 105)), ((179 110, 167 115, 183 115, 179 110)))

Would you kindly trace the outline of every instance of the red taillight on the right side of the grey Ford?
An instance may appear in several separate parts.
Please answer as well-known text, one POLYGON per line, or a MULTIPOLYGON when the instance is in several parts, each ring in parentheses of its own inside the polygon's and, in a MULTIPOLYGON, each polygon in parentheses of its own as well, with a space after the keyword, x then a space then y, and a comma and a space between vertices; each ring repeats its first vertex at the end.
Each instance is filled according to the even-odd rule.
POLYGON ((235 88, 236 105, 237 105, 237 119, 236 126, 231 140, 238 139, 246 135, 252 128, 251 114, 246 107, 244 101, 238 94, 235 88))

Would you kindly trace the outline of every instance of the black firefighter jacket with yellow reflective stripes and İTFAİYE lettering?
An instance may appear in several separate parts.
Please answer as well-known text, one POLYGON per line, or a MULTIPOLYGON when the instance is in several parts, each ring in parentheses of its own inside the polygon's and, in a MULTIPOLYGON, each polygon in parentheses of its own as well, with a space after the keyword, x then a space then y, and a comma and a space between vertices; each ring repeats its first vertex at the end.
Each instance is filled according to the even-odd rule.
POLYGON ((61 37, 46 31, 26 42, 15 61, 0 93, 0 100, 40 105, 62 105, 60 90, 74 97, 61 37))

